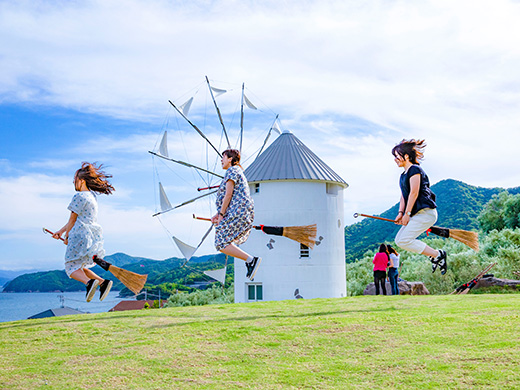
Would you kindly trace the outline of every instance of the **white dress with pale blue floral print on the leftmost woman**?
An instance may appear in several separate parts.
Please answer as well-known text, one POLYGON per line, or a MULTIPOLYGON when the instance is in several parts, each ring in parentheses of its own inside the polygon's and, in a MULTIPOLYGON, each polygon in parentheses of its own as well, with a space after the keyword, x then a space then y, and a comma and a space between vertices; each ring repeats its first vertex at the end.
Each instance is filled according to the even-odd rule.
POLYGON ((65 272, 70 275, 81 268, 91 268, 95 264, 92 256, 105 256, 103 249, 103 229, 97 223, 97 201, 90 191, 76 192, 68 209, 78 218, 69 232, 69 243, 65 252, 65 272))

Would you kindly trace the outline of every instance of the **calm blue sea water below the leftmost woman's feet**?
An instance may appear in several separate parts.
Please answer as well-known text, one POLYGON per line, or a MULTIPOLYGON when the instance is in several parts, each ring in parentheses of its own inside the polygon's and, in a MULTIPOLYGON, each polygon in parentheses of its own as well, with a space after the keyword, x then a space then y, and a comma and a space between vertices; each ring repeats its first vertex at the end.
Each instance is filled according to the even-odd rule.
POLYGON ((25 320, 35 314, 49 309, 56 309, 63 305, 86 313, 107 312, 123 300, 118 298, 119 291, 111 291, 108 296, 99 301, 99 291, 94 299, 85 302, 85 293, 0 293, 0 322, 25 320), (60 296, 63 296, 61 298, 60 296))

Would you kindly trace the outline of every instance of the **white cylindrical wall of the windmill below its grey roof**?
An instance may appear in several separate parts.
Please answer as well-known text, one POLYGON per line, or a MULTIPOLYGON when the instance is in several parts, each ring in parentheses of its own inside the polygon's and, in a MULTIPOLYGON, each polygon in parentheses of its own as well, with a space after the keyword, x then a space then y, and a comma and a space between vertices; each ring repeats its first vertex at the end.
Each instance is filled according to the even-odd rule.
POLYGON ((298 242, 253 229, 242 248, 262 257, 262 263, 251 282, 245 278, 244 261, 235 259, 235 302, 248 301, 248 284, 261 284, 262 300, 268 301, 294 299, 296 289, 306 299, 344 297, 343 187, 319 181, 269 181, 260 183, 259 193, 255 193, 254 183, 250 189, 255 202, 255 225, 316 223, 317 239, 323 239, 310 250, 310 257, 301 258, 298 242))

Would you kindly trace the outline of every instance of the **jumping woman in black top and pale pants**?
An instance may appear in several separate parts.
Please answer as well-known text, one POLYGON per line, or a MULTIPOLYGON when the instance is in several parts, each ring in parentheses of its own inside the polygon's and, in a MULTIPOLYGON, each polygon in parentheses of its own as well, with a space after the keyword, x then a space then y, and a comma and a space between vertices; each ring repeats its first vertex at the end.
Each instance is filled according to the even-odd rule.
POLYGON ((448 269, 446 252, 430 248, 424 242, 417 240, 421 233, 437 221, 435 194, 430 189, 428 176, 418 162, 424 157, 425 147, 424 140, 411 139, 402 140, 392 149, 397 166, 404 170, 399 179, 401 200, 395 218, 395 223, 402 227, 395 236, 395 243, 408 251, 429 256, 432 272, 439 267, 441 274, 444 275, 448 269))

